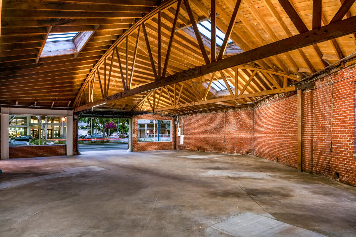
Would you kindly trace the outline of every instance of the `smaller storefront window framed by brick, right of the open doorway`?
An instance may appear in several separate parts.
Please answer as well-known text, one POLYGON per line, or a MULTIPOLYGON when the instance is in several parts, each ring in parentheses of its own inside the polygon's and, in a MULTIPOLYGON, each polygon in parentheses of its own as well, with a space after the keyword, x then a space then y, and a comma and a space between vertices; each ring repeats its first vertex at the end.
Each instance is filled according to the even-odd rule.
POLYGON ((171 141, 171 120, 137 120, 138 142, 171 141))

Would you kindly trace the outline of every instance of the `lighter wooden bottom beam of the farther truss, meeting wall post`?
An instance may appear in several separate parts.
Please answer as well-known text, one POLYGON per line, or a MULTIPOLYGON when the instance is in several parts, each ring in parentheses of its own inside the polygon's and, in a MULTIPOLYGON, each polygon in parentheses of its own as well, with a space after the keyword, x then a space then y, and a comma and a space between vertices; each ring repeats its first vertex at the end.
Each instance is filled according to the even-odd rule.
POLYGON ((296 86, 288 86, 288 87, 278 88, 278 89, 274 89, 274 90, 260 91, 260 92, 248 93, 248 94, 242 94, 242 95, 236 95, 236 96, 224 96, 224 97, 220 97, 220 98, 216 98, 216 99, 208 99, 208 100, 203 100, 203 101, 178 104, 176 106, 157 108, 157 109, 155 109, 155 112, 166 111, 166 110, 171 110, 171 109, 179 109, 179 108, 190 107, 190 106, 199 106, 202 104, 234 101, 236 99, 246 99, 246 98, 253 98, 253 97, 258 97, 258 96, 268 96, 268 95, 274 95, 274 94, 278 94, 278 93, 303 90, 303 89, 312 88, 312 87, 314 87, 314 83, 308 83, 308 84, 296 85, 296 86))

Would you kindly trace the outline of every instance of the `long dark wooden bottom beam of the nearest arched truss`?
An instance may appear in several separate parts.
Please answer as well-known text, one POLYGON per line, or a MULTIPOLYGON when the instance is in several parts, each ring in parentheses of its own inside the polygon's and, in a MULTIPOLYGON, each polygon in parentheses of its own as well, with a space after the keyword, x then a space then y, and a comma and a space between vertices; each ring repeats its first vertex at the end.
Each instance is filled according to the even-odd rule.
POLYGON ((82 111, 93 106, 98 106, 99 104, 115 101, 120 98, 135 95, 137 93, 142 93, 145 91, 150 91, 164 85, 170 85, 177 82, 197 78, 212 72, 219 70, 232 68, 245 63, 250 63, 252 61, 268 58, 281 53, 286 53, 291 50, 303 48, 316 43, 328 41, 341 36, 346 36, 356 32, 356 16, 347 18, 342 21, 338 21, 311 31, 300 33, 298 35, 281 39, 279 41, 263 45, 256 49, 248 50, 244 53, 230 56, 219 61, 191 68, 182 72, 178 72, 174 75, 170 75, 161 79, 159 81, 151 82, 143 86, 136 87, 134 89, 116 93, 109 97, 100 99, 92 103, 85 104, 83 106, 77 107, 74 111, 82 111), (345 27, 348 26, 348 27, 345 27))

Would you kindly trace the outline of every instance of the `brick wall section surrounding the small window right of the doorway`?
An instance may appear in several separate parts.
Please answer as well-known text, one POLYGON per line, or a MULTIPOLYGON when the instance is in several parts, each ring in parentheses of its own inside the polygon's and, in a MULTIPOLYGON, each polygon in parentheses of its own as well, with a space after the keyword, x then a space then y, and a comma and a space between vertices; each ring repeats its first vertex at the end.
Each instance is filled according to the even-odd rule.
POLYGON ((152 114, 142 114, 133 116, 132 118, 132 133, 136 133, 136 137, 132 137, 132 151, 150 151, 150 150, 171 150, 174 149, 173 139, 176 135, 174 131, 174 118, 152 114), (171 120, 171 141, 160 142, 138 142, 137 141, 137 119, 157 119, 157 120, 171 120))

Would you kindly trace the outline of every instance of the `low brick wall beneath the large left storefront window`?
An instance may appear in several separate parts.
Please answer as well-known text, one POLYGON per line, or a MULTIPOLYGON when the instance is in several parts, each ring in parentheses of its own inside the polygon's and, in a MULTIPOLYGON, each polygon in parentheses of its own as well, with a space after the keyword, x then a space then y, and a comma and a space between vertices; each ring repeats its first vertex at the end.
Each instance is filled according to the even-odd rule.
POLYGON ((9 158, 64 156, 67 145, 9 146, 9 158))

